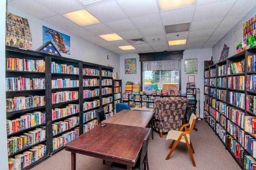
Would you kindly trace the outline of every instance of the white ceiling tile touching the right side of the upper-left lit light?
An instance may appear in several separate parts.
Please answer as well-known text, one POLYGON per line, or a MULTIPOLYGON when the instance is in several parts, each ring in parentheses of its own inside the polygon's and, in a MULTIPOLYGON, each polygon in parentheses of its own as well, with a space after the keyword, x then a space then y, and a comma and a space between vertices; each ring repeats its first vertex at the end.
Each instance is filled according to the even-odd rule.
POLYGON ((102 22, 110 22, 128 18, 116 2, 107 2, 86 8, 86 10, 102 22), (117 15, 118 14, 118 15, 117 15))

